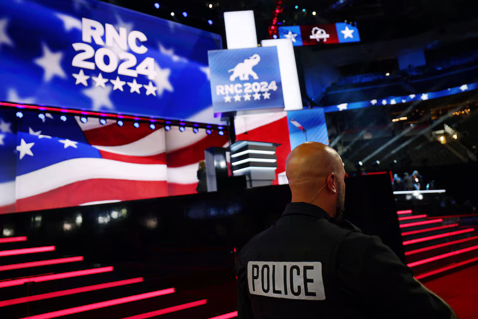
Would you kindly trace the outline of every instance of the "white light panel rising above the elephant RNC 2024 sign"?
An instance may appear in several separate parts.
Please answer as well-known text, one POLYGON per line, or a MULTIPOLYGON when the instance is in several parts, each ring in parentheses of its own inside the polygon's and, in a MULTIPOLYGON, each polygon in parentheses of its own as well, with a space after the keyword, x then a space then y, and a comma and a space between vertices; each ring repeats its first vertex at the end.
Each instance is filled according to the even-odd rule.
POLYGON ((257 47, 254 11, 224 12, 228 49, 257 47))

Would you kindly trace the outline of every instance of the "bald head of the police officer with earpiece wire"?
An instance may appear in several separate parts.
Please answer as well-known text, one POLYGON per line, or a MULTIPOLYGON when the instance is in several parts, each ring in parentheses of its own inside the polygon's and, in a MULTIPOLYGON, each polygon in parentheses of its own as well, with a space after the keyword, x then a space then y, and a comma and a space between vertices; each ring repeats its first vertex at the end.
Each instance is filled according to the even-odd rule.
POLYGON ((345 171, 340 155, 331 147, 317 142, 299 145, 287 157, 285 171, 293 202, 310 202, 332 217, 338 208, 343 209, 345 171))

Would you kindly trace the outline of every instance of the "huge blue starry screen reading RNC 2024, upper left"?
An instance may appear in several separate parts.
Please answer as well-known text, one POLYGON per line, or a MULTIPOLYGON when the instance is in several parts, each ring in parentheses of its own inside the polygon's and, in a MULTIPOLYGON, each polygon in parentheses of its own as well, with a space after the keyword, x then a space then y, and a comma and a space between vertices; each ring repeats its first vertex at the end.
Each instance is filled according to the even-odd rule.
POLYGON ((0 1, 0 101, 213 118, 207 52, 221 47, 218 34, 102 1, 0 1))

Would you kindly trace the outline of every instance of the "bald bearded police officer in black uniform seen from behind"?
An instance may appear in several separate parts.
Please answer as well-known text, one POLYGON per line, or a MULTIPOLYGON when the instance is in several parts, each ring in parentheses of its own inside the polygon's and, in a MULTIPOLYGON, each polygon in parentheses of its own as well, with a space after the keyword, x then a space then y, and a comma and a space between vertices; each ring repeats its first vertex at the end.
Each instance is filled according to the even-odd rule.
POLYGON ((341 219, 345 171, 334 149, 299 145, 286 174, 292 202, 238 257, 239 319, 456 318, 378 237, 341 219))

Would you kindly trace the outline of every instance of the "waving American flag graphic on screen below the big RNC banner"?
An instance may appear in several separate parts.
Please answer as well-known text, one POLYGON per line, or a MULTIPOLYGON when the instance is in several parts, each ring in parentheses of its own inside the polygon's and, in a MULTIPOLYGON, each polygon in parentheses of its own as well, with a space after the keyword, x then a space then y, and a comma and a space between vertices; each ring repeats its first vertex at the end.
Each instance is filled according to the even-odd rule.
POLYGON ((217 132, 0 110, 0 213, 191 194, 217 132))

